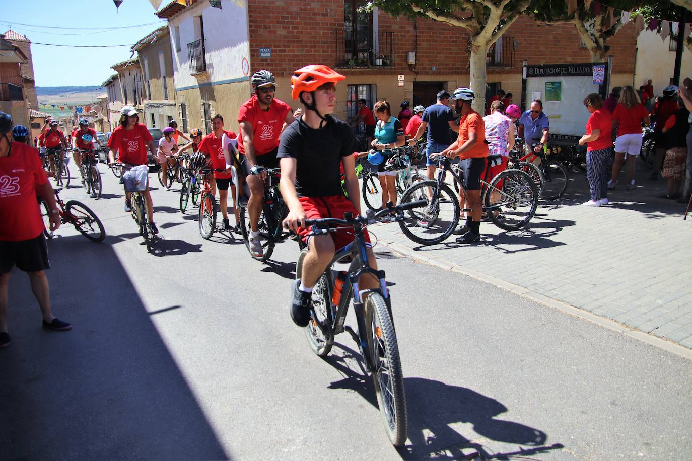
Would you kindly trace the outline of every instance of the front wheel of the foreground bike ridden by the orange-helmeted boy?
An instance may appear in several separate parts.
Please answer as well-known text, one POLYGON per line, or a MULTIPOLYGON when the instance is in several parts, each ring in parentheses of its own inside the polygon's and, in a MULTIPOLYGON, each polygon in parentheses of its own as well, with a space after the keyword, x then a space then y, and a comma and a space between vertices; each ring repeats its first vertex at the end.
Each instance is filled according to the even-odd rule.
POLYGON ((364 307, 372 381, 380 415, 392 445, 402 446, 408 437, 408 414, 394 322, 381 294, 370 293, 364 307))

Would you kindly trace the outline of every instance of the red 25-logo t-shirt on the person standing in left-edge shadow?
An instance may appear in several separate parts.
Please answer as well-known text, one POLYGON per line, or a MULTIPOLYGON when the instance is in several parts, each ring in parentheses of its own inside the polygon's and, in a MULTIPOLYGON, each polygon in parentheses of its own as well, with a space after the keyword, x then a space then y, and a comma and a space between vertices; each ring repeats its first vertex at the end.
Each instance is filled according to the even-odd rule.
POLYGON ((38 151, 12 142, 10 156, 0 157, 0 241, 29 240, 43 232, 36 186, 47 181, 38 151))

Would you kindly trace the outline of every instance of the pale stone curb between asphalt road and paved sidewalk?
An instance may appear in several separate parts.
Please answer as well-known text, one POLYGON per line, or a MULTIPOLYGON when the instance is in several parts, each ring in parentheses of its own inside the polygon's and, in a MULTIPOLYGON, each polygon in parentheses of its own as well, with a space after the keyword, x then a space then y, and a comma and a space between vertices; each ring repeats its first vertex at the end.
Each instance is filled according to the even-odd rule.
POLYGON ((621 333, 621 335, 625 335, 632 339, 637 339, 637 341, 649 344, 650 346, 655 346, 657 348, 666 350, 666 352, 671 352, 684 359, 692 360, 692 349, 677 344, 671 341, 670 339, 664 339, 654 335, 650 335, 649 333, 637 330, 637 328, 625 325, 623 323, 619 323, 618 321, 614 321, 606 317, 601 317, 597 314, 592 314, 588 310, 583 310, 581 308, 576 307, 575 305, 565 303, 564 301, 559 301, 558 299, 550 298, 544 296, 543 294, 534 293, 531 290, 528 290, 527 288, 515 285, 514 283, 509 283, 502 279, 498 279, 497 277, 476 271, 471 272, 467 270, 465 267, 458 265, 456 263, 452 263, 450 261, 446 261, 445 259, 428 258, 426 256, 419 255, 414 250, 404 245, 401 245, 400 243, 384 240, 382 240, 381 243, 383 243, 383 245, 386 245, 387 247, 390 247, 390 249, 394 250, 395 252, 402 254, 403 256, 413 258, 421 263, 433 265, 435 267, 439 267, 440 269, 457 272, 457 274, 462 274, 464 276, 471 277, 471 279, 475 279, 477 281, 490 283, 491 285, 495 285, 496 287, 501 288, 502 290, 507 290, 514 294, 518 294, 518 296, 522 298, 530 299, 531 301, 534 301, 536 303, 547 305, 549 308, 560 310, 561 312, 565 312, 565 314, 570 314, 573 317, 579 317, 580 319, 589 321, 591 323, 595 323, 603 328, 608 328, 608 330, 621 333))

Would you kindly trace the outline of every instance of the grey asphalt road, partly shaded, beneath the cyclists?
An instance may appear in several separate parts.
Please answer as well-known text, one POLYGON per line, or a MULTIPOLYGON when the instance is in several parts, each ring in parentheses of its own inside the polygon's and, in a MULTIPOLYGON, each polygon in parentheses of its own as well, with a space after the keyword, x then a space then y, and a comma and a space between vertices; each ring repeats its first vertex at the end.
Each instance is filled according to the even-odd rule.
POLYGON ((379 265, 408 399, 397 451, 350 337, 322 360, 289 318, 295 243, 262 264, 240 240, 204 241, 174 185, 153 191, 164 240, 147 254, 101 169, 105 198, 62 196, 106 240, 64 227, 48 243, 73 330, 42 330, 28 279, 10 279, 0 459, 692 459, 689 360, 394 255, 379 265))

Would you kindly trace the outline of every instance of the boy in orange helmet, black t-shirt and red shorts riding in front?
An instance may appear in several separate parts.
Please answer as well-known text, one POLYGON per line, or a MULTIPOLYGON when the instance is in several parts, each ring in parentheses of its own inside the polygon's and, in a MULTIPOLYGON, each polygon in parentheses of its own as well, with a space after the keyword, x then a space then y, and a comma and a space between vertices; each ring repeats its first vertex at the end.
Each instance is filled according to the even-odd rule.
MULTIPOLYGON (((305 220, 343 218, 345 212, 361 214, 361 194, 352 155, 356 139, 347 123, 331 116, 336 106, 336 84, 343 79, 343 75, 321 65, 306 66, 293 73, 291 96, 300 100, 304 111, 284 130, 277 153, 281 164, 281 193, 289 207, 283 225, 297 232, 308 247, 302 278, 293 283, 291 293, 291 319, 302 327, 310 321, 313 285, 335 250, 353 241, 352 234, 343 229, 309 236, 311 229, 305 227, 305 220), (343 164, 345 171, 348 198, 341 186, 339 164, 343 164)), ((370 241, 367 234, 365 238, 370 241)), ((367 250, 367 258, 376 267, 372 249, 367 250)), ((360 282, 364 289, 376 286, 368 276, 360 282)))

